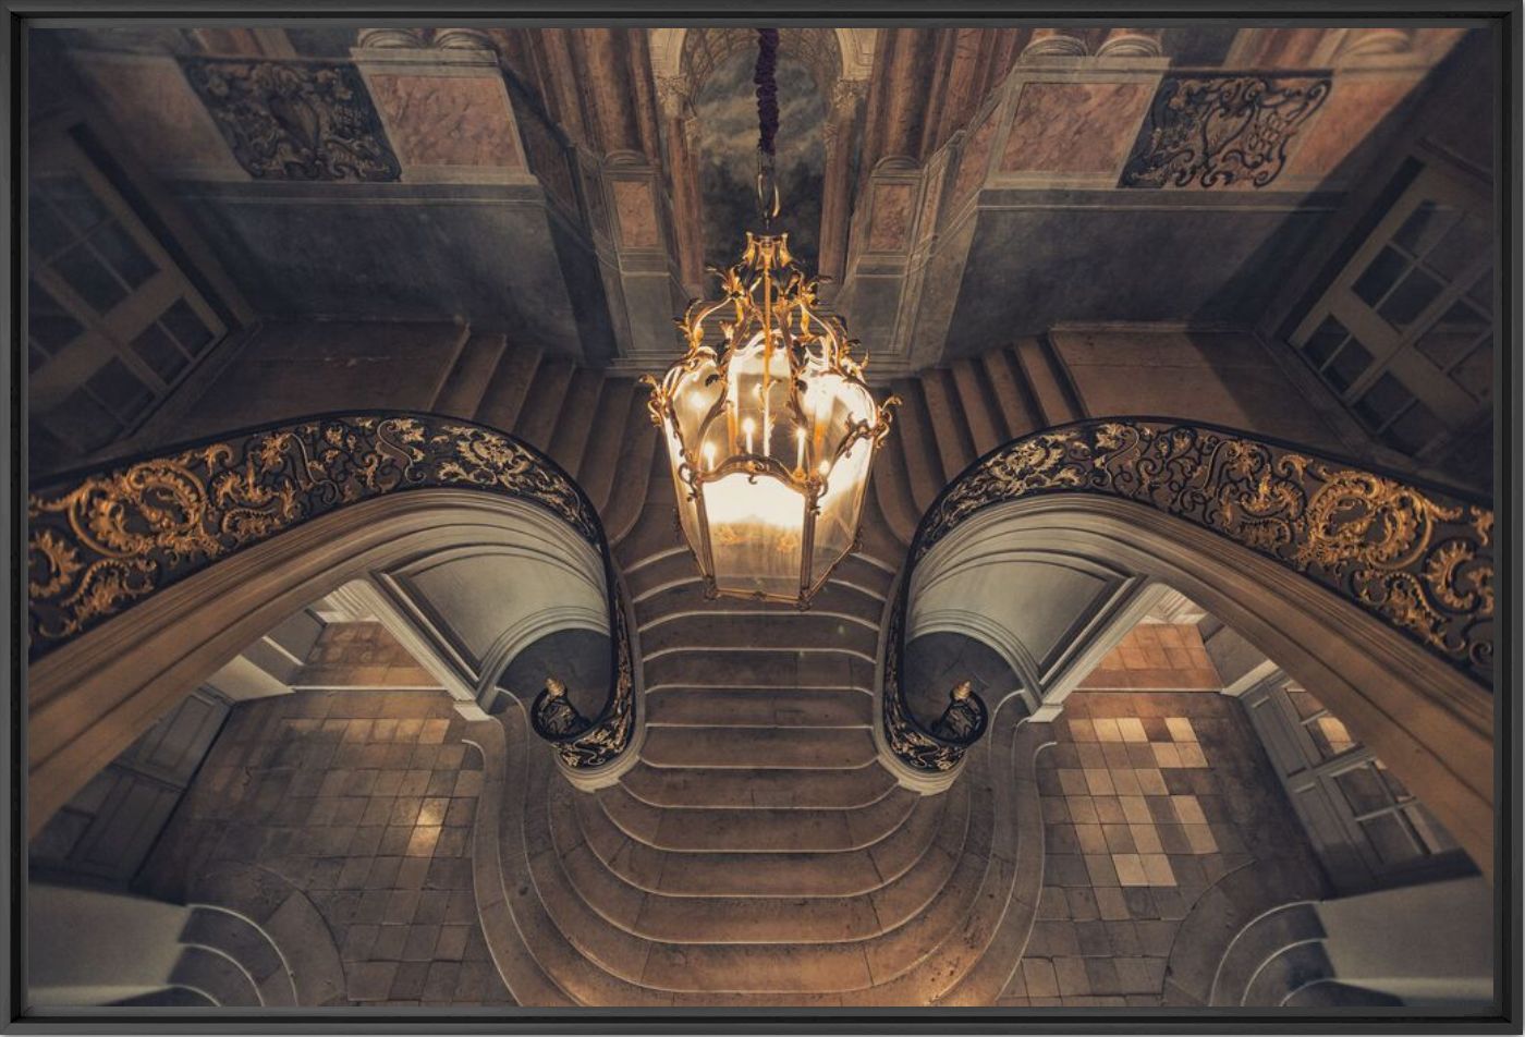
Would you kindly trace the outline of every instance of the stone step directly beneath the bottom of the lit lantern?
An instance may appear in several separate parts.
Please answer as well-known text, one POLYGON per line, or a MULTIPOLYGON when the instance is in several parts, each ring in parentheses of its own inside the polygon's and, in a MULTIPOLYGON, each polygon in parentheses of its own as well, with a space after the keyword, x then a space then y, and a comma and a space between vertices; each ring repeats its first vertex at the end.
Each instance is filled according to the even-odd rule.
POLYGON ((860 616, 813 607, 808 613, 775 605, 773 615, 730 608, 729 599, 706 602, 689 612, 647 619, 642 608, 640 653, 653 659, 673 648, 839 648, 872 659, 878 648, 878 624, 860 616))

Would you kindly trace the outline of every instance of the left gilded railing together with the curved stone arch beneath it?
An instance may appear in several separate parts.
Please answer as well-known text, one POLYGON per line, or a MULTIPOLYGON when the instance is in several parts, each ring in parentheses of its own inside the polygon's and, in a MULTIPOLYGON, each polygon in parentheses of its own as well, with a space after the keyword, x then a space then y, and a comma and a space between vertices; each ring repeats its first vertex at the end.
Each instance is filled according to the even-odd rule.
POLYGON ((471 683, 557 622, 601 625, 607 698, 554 741, 589 770, 631 741, 625 605, 598 515, 554 462, 491 429, 311 418, 64 476, 29 509, 30 833, 198 682, 357 578, 430 613, 471 683), (532 601, 473 601, 494 583, 532 601))

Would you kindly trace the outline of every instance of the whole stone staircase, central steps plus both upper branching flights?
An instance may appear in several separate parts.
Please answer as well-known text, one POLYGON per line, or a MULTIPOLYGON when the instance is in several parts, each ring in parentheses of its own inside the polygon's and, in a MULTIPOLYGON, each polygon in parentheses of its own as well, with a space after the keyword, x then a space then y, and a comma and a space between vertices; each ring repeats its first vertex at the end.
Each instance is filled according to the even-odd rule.
POLYGON ((547 451, 599 509, 645 686, 639 759, 596 793, 557 772, 528 703, 470 734, 486 769, 477 901, 518 1002, 994 1003, 1042 881, 1039 735, 999 711, 961 779, 923 796, 878 762, 874 676, 921 511, 981 453, 1080 416, 1045 346, 889 387, 904 406, 863 547, 804 613, 703 596, 631 381, 491 336, 456 368, 476 375, 453 372, 436 410, 547 451), (1055 383, 1048 404, 1032 364, 1055 383))

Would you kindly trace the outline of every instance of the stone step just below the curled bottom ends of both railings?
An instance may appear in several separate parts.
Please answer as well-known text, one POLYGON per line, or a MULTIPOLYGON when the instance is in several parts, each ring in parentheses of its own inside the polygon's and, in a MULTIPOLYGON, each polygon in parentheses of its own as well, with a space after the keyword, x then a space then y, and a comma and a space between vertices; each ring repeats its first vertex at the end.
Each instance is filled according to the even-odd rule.
MULTIPOLYGON (((648 732, 650 735, 650 732, 648 732)), ((621 784, 653 807, 836 810, 866 807, 897 788, 878 759, 852 770, 671 769, 637 762, 621 784)))

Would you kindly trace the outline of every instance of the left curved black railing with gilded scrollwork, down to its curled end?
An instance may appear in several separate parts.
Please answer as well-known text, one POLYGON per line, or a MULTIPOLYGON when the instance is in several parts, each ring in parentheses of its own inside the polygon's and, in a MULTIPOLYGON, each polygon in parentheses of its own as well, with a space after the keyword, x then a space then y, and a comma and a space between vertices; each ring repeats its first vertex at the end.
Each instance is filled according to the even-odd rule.
POLYGON ((630 744, 625 608, 598 514, 555 462, 494 429, 425 413, 322 415, 49 479, 27 499, 27 657, 38 660, 156 593, 297 526, 416 490, 537 505, 604 564, 613 653, 599 715, 552 737, 572 767, 630 744))

